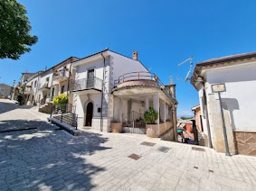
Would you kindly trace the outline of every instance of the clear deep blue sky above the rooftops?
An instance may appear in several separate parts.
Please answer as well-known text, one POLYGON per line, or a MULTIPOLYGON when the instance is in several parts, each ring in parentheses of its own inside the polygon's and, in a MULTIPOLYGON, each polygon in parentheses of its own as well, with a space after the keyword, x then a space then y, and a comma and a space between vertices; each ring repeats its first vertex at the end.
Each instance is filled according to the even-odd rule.
POLYGON ((0 83, 11 85, 21 72, 48 68, 70 56, 110 50, 138 58, 164 83, 174 77, 178 114, 198 105, 197 92, 185 77, 194 63, 256 51, 255 1, 182 0, 19 0, 27 8, 39 41, 19 60, 0 60, 0 83))

